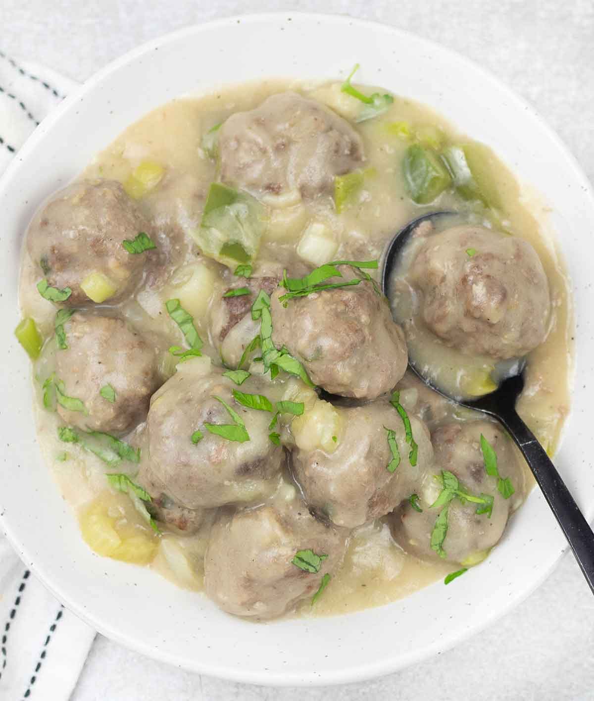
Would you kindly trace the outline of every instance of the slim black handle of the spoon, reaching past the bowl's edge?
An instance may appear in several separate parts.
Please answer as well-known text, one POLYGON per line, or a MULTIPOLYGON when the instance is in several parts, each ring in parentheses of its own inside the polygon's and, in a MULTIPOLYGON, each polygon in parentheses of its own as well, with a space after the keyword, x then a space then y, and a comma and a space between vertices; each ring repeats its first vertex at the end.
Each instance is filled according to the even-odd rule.
POLYGON ((522 421, 515 409, 510 408, 498 416, 509 434, 518 444, 532 474, 553 510, 569 546, 594 593, 594 533, 583 517, 574 498, 565 486, 555 465, 546 454, 532 431, 522 421))

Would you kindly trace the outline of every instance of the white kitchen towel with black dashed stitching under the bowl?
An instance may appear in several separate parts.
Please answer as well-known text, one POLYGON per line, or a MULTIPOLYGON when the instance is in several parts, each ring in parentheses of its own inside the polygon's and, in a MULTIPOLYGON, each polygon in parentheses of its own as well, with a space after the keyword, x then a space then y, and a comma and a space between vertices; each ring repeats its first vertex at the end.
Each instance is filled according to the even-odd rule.
MULTIPOLYGON (((29 134, 76 86, 0 50, 0 175, 29 134)), ((0 699, 65 701, 95 631, 67 611, 0 534, 0 699)))

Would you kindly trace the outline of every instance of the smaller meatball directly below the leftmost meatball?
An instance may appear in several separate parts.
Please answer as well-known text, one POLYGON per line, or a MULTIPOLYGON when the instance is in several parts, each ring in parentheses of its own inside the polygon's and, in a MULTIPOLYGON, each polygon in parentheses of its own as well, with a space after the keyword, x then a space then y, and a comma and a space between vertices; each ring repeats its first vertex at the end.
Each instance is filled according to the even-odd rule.
POLYGON ((126 433, 144 421, 161 384, 158 346, 123 319, 93 313, 75 312, 64 333, 68 347, 55 352, 55 378, 64 395, 84 404, 74 411, 58 402, 64 421, 107 433, 126 433))

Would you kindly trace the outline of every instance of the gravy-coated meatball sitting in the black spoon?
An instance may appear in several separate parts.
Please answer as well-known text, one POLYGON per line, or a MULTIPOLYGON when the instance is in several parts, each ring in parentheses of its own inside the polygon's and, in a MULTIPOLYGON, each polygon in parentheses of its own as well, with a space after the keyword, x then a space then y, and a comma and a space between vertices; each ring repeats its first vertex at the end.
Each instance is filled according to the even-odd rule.
POLYGON ((525 240, 456 226, 427 238, 408 279, 428 328, 462 353, 519 358, 546 338, 548 280, 525 240))

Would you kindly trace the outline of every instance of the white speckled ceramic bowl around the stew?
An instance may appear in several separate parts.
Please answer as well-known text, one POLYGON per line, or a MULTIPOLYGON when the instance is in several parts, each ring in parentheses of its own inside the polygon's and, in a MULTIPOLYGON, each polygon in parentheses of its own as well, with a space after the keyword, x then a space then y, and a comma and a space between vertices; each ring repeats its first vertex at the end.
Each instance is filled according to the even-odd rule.
POLYGON ((453 585, 437 583, 360 613, 255 625, 147 569, 93 554, 41 461, 29 363, 11 334, 18 322, 22 235, 37 205, 128 124, 173 97, 271 76, 337 78, 354 60, 362 65, 359 81, 431 105, 468 135, 490 144, 551 205, 551 224, 572 276, 579 367, 556 463, 588 519, 594 515, 588 459, 594 454, 594 198, 574 158, 534 111, 449 50, 398 29, 344 17, 252 15, 147 43, 68 97, 37 128, 0 184, 5 329, 0 515, 22 559, 65 606, 108 637, 195 672, 278 685, 341 683, 393 672, 443 651, 518 604, 566 547, 544 499, 534 491, 488 561, 453 585))

